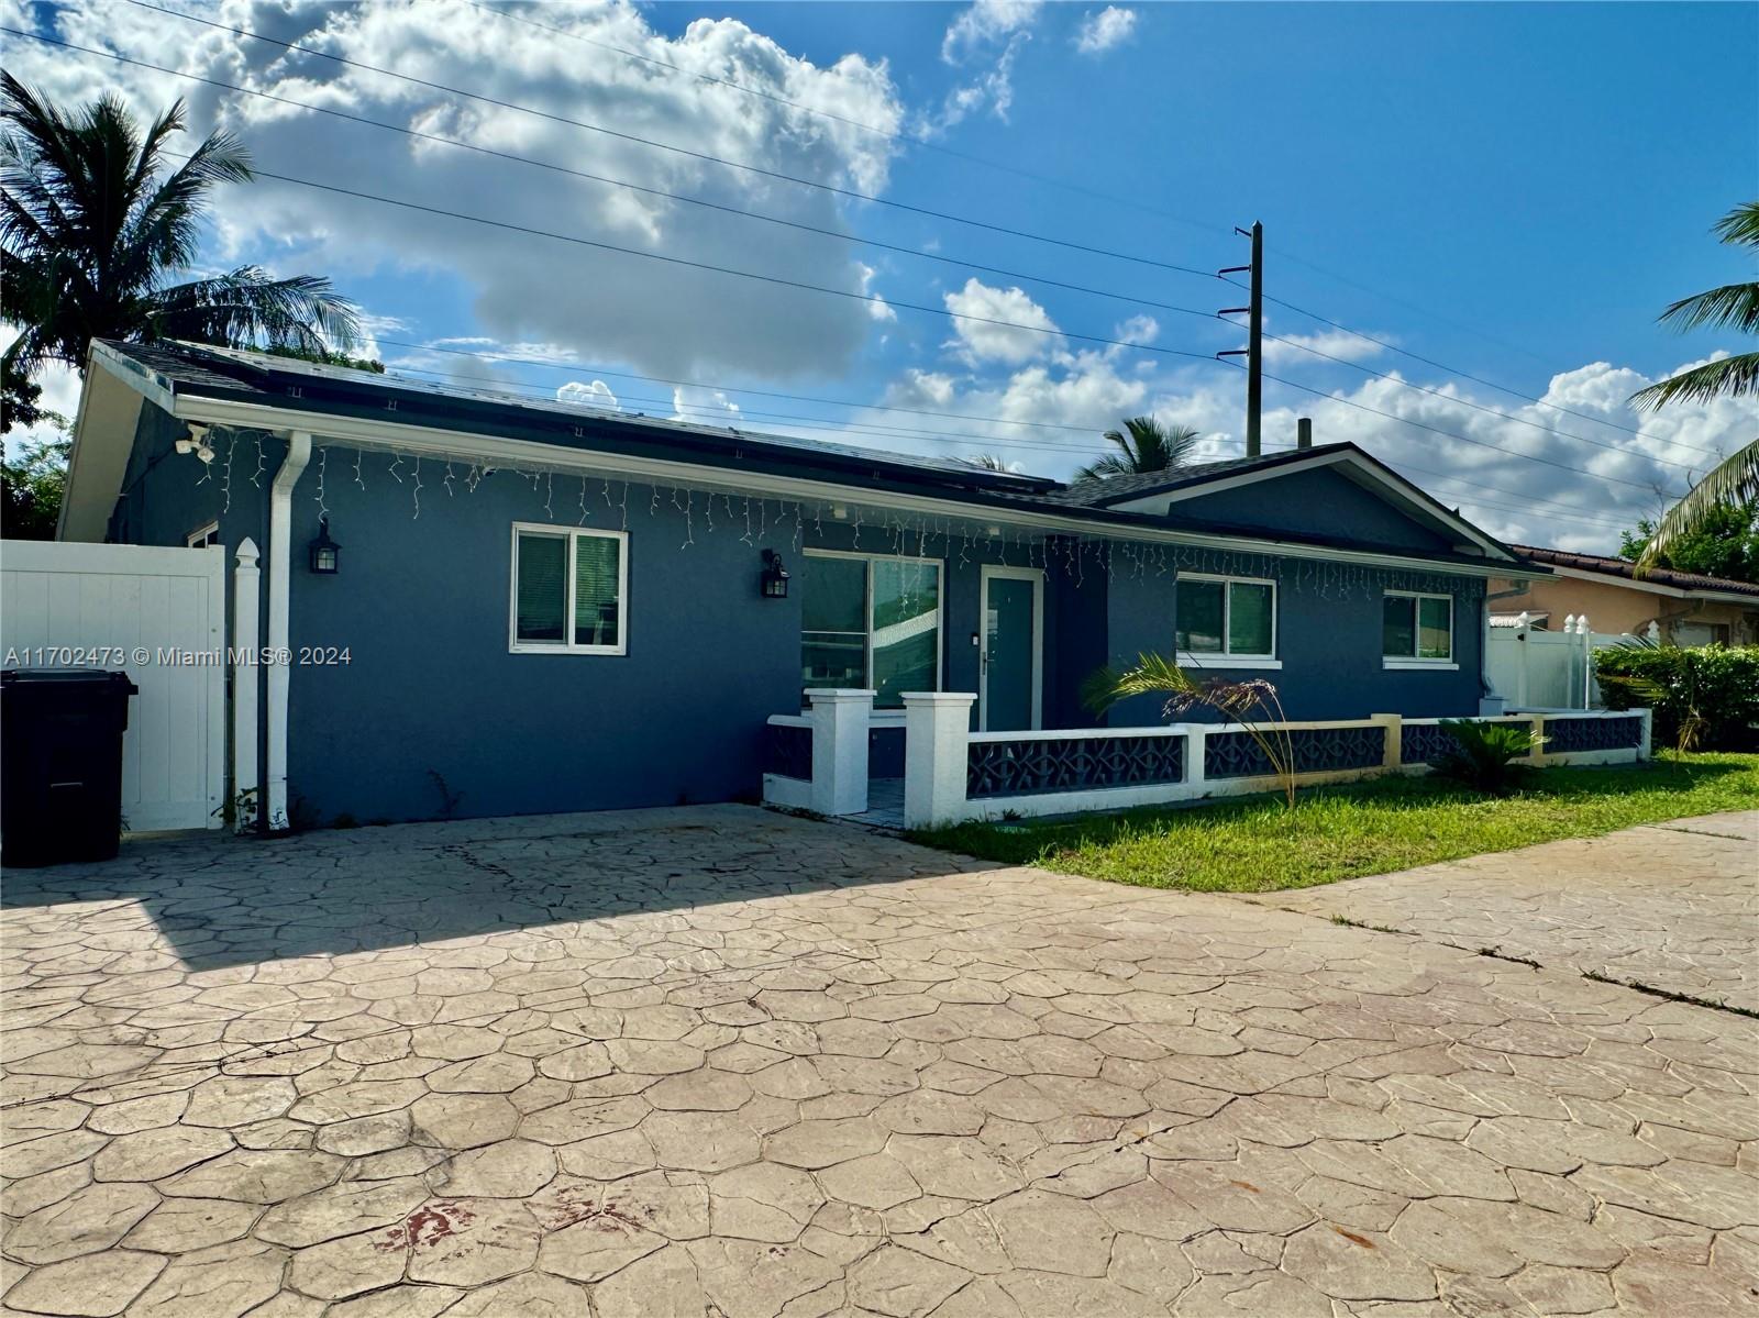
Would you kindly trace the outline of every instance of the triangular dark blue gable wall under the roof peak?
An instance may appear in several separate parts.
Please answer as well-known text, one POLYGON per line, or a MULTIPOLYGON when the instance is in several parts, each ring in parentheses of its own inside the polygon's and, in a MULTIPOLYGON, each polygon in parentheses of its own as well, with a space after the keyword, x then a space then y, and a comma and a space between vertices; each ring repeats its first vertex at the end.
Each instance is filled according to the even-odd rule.
POLYGON ((1444 551, 1449 538, 1412 521, 1377 494, 1330 468, 1291 472, 1275 480, 1235 486, 1180 500, 1180 526, 1214 524, 1268 533, 1335 537, 1363 546, 1444 551))

